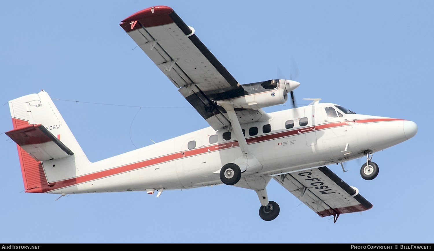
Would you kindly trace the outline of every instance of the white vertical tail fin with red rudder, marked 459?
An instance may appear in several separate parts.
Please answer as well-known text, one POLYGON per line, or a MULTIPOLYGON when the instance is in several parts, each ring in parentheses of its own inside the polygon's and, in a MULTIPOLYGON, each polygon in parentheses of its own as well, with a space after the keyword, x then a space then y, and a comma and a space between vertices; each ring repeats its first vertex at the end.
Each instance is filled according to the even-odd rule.
POLYGON ((17 143, 26 192, 46 192, 50 182, 74 177, 76 164, 89 163, 48 93, 16 98, 9 107, 13 130, 6 134, 17 143), (60 167, 44 168, 56 159, 60 167))

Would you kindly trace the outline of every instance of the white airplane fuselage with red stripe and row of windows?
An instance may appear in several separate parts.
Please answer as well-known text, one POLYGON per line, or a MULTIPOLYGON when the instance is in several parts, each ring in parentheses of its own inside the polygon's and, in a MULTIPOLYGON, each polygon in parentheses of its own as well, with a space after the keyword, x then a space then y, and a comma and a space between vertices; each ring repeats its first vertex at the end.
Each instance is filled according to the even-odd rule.
MULTIPOLYGON (((342 112, 343 116, 330 118, 325 107, 335 108, 334 104, 316 103, 270 113, 269 121, 242 124, 250 151, 263 169, 243 174, 241 179, 349 161, 362 157, 366 150, 374 153, 414 135, 411 121, 342 112), (307 125, 300 125, 305 118, 307 125), (293 127, 287 129, 290 120, 293 127), (257 135, 253 135, 254 127, 257 135), (269 127, 271 131, 267 132, 269 127)), ((45 161, 47 180, 53 184, 45 192, 174 190, 221 184, 221 167, 241 154, 233 133, 230 139, 223 139, 224 132, 231 131, 230 128, 216 132, 208 127, 102 161, 76 165, 75 170, 64 170, 62 166, 70 166, 66 162, 80 156, 45 161), (217 142, 213 135, 217 135, 217 142)))

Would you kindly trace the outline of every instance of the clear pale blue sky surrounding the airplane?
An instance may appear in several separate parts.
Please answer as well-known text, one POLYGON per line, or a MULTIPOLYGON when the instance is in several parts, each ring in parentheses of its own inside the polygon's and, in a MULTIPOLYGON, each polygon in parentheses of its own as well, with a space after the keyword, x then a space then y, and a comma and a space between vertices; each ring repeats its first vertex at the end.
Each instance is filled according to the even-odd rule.
MULTIPOLYGON (((23 191, 14 142, 0 135, 0 242, 432 243, 434 2, 432 1, 0 1, 0 101, 46 90, 91 161, 207 127, 207 122, 118 25, 150 6, 174 9, 240 84, 289 78, 302 98, 356 113, 409 119, 419 132, 362 161, 329 168, 374 206, 321 218, 274 180, 280 205, 258 216, 256 193, 226 185, 58 195, 23 191), (293 58, 293 59, 291 59, 293 58), (135 69, 132 71, 132 69, 135 69), (138 113, 137 113, 138 112, 138 113), (137 113, 137 116, 135 114, 137 113), (133 121, 134 119, 134 121, 133 121)), ((266 108, 267 112, 289 106, 266 108)), ((0 106, 0 132, 12 129, 0 106)))

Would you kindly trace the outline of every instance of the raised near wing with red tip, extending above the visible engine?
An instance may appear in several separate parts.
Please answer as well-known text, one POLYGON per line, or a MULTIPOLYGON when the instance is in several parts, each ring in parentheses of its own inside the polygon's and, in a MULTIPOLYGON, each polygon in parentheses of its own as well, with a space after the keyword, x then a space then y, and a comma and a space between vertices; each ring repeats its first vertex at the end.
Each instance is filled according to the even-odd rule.
MULTIPOLYGON (((246 91, 170 7, 141 10, 120 26, 215 130, 230 125, 226 110, 214 101, 246 91)), ((266 117, 262 109, 235 111, 240 124, 266 117)))

